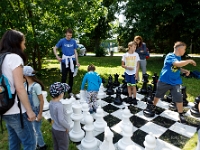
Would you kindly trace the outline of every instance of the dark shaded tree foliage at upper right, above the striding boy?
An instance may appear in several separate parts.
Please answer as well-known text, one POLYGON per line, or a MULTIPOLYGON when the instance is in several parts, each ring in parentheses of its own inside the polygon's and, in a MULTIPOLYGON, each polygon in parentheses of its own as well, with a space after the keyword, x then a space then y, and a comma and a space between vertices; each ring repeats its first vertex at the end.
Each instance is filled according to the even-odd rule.
MULTIPOLYGON (((200 1, 129 0, 124 7, 126 26, 120 27, 120 37, 128 40, 141 35, 147 45, 171 51, 175 41, 198 44, 200 33, 200 1), (123 32, 122 32, 123 31, 123 32)), ((125 40, 125 43, 128 41, 125 40)))

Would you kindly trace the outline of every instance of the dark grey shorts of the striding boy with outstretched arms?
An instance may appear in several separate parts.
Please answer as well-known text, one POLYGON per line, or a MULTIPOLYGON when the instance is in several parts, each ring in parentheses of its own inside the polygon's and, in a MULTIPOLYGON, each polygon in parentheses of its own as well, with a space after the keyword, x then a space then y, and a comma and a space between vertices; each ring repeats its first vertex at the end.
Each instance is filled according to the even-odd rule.
POLYGON ((157 83, 157 90, 156 90, 155 97, 163 98, 168 90, 170 90, 171 92, 173 102, 177 102, 177 103, 183 102, 180 85, 170 85, 161 81, 158 81, 157 83))

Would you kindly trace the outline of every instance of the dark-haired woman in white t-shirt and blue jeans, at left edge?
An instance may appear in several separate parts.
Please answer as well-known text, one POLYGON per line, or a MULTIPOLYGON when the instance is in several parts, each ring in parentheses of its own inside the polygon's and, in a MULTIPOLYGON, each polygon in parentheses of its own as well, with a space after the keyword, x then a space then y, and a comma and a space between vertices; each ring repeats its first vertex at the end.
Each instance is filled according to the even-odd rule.
POLYGON ((31 109, 27 92, 23 84, 23 65, 26 57, 23 53, 25 49, 25 37, 23 33, 16 30, 8 30, 0 41, 0 54, 7 54, 2 64, 2 73, 8 78, 11 91, 20 99, 22 110, 22 123, 20 121, 20 109, 18 107, 17 96, 14 105, 3 115, 9 134, 9 149, 20 150, 23 145, 24 150, 35 150, 35 137, 31 121, 36 116, 31 109))

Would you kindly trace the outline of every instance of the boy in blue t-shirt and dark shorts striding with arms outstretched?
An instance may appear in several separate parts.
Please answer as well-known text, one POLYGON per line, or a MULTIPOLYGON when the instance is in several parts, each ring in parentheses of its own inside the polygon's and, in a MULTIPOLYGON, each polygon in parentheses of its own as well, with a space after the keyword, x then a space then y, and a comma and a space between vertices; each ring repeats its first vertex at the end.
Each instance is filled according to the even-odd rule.
POLYGON ((176 107, 179 113, 179 121, 184 123, 185 118, 183 116, 183 98, 180 86, 182 84, 180 72, 185 73, 186 76, 190 74, 189 70, 181 67, 188 64, 196 66, 196 62, 192 59, 181 60, 181 56, 184 55, 186 44, 184 42, 176 42, 174 44, 174 52, 169 53, 165 60, 164 66, 160 73, 160 78, 157 83, 157 90, 153 101, 153 111, 155 111, 156 104, 160 98, 163 98, 165 93, 170 90, 173 101, 176 103, 176 107))

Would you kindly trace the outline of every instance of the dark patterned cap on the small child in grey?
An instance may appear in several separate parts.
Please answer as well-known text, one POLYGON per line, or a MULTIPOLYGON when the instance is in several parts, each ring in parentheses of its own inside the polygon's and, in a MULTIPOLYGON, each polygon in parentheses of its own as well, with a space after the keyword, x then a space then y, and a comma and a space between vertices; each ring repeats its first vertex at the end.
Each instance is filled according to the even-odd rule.
POLYGON ((50 95, 52 97, 57 97, 60 94, 67 92, 70 86, 67 83, 55 82, 50 86, 50 95))

